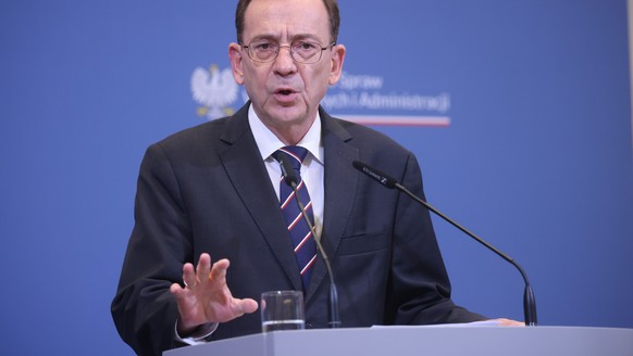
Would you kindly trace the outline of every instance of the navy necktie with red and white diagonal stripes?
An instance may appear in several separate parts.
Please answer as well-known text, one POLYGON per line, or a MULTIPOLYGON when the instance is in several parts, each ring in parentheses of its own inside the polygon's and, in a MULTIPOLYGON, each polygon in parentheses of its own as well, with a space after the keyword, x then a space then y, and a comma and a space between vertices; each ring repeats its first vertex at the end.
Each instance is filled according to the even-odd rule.
MULTIPOLYGON (((308 189, 303 179, 301 179, 300 170, 301 163, 308 154, 308 150, 298 145, 288 145, 281 148, 273 153, 273 157, 281 162, 280 155, 285 154, 290 162, 293 168, 295 169, 299 182, 297 185, 297 191, 299 192, 299 199, 306 208, 306 213, 310 219, 312 226, 314 225, 314 217, 312 214, 312 201, 310 200, 310 194, 308 194, 308 189)), ((288 186, 284 177, 282 176, 280 182, 280 203, 282 206, 282 213, 286 219, 286 226, 288 227, 288 233, 293 240, 293 246, 295 247, 295 256, 297 257, 297 263, 299 265, 299 270, 301 272, 301 280, 303 281, 303 290, 308 290, 308 282, 310 281, 310 275, 312 271, 312 265, 316 260, 316 244, 314 242, 314 237, 310 227, 306 223, 299 205, 297 204, 295 192, 293 188, 288 186)))

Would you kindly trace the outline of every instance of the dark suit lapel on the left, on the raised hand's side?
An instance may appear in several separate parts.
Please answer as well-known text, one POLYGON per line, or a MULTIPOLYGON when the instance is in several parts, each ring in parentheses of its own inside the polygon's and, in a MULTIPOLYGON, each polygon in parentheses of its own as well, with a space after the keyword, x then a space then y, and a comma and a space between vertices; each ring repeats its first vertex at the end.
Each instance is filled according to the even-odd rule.
POLYGON ((220 152, 226 174, 293 287, 301 290, 299 267, 278 199, 269 183, 268 171, 248 126, 248 104, 228 119, 226 125, 222 140, 227 144, 220 152))

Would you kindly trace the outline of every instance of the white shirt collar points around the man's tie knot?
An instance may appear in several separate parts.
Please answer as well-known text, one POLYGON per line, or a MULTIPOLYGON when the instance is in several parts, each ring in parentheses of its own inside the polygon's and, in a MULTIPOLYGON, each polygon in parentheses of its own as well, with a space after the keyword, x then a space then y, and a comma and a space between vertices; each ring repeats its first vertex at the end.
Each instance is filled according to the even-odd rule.
MULTIPOLYGON (((271 154, 285 147, 285 144, 257 116, 252 109, 252 104, 248 109, 248 124, 250 125, 250 129, 255 136, 255 142, 259 148, 263 161, 269 160, 271 154)), ((319 115, 319 112, 316 112, 316 118, 312 123, 312 126, 297 145, 308 150, 318 162, 323 164, 323 157, 321 156, 321 116, 319 115)))

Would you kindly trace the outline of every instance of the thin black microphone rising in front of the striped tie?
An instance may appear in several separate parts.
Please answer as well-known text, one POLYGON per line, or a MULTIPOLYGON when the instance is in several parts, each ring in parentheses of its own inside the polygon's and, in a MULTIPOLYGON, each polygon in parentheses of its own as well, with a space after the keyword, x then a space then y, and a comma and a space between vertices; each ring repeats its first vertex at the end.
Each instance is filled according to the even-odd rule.
POLYGON ((293 168, 290 162, 284 154, 278 155, 280 158, 280 166, 282 167, 282 175, 284 176, 284 181, 286 185, 293 188, 295 192, 295 199, 297 200, 297 204, 299 205, 299 209, 301 211, 301 215, 303 215, 303 219, 308 224, 310 231, 312 231, 312 238, 316 243, 316 250, 319 250, 319 254, 323 262, 325 263, 325 268, 327 269, 327 275, 330 276, 330 328, 337 329, 340 327, 340 317, 338 316, 338 291, 336 289, 336 283, 334 283, 334 275, 332 274, 332 266, 330 265, 330 258, 327 258, 327 254, 325 250, 323 250, 323 245, 321 241, 316 239, 316 230, 314 226, 310 221, 308 217, 308 213, 306 213, 306 207, 301 200, 299 199, 299 192, 297 191, 297 185, 299 183, 299 177, 297 177, 297 173, 293 168))

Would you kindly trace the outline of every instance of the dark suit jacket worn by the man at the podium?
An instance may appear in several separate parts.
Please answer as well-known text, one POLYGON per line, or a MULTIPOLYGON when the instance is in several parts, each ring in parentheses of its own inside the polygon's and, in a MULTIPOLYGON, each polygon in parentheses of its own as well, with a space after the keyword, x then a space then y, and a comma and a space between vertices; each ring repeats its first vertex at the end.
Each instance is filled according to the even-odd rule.
MULTIPOLYGON (((138 354, 174 344, 177 308, 169 292, 185 262, 228 258, 236 297, 301 290, 293 246, 248 125, 234 116, 151 145, 142 161, 129 239, 112 315, 138 354)), ((429 213, 356 170, 380 167, 423 196, 415 157, 389 138, 320 111, 325 161, 322 242, 338 287, 343 327, 483 319, 456 306, 429 213)), ((330 283, 319 258, 306 292, 308 327, 327 326, 330 283)), ((222 323, 212 340, 261 331, 259 310, 222 323)))

